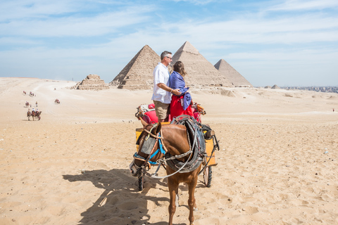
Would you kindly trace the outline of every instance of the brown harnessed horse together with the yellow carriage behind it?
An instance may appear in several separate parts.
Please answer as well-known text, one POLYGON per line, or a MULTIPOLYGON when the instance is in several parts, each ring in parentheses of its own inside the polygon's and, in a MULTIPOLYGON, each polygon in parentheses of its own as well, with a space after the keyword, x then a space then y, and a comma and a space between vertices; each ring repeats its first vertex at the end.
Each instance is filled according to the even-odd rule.
POLYGON ((144 176, 167 178, 170 193, 169 225, 173 225, 173 215, 178 206, 178 189, 185 183, 189 189, 189 221, 194 223, 197 210, 194 197, 199 174, 203 173, 204 184, 211 186, 211 167, 215 162, 215 150, 220 149, 215 132, 201 124, 201 105, 195 104, 194 117, 180 115, 169 117, 169 122, 158 122, 154 104, 140 105, 135 116, 141 120, 143 128, 136 129, 137 151, 130 164, 132 176, 137 176, 139 190, 144 186, 144 176), (171 122, 170 122, 171 121, 171 122), (157 165, 156 172, 149 174, 151 165, 157 165), (163 166, 166 176, 158 176, 163 166))

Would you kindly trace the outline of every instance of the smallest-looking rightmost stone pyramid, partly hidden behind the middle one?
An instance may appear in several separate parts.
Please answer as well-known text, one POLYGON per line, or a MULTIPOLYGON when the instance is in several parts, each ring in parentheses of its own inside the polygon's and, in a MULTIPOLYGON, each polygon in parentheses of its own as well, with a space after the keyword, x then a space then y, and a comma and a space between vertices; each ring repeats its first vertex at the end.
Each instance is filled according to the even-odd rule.
POLYGON ((252 86, 237 70, 224 59, 215 64, 215 68, 220 72, 223 77, 226 77, 234 86, 252 86))

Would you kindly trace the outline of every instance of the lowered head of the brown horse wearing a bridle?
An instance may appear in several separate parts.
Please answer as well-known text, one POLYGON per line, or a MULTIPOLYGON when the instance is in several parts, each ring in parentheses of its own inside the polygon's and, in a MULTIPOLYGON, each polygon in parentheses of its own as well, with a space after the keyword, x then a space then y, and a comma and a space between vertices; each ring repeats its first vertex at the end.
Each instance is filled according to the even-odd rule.
POLYGON ((148 124, 142 118, 139 118, 143 125, 142 134, 140 134, 137 139, 137 144, 139 148, 137 152, 134 153, 134 160, 130 164, 130 172, 132 176, 142 176, 142 172, 150 169, 151 162, 156 162, 159 158, 161 158, 161 154, 156 154, 154 158, 149 158, 151 152, 154 153, 154 148, 157 148, 158 141, 156 139, 157 134, 161 131, 161 123, 156 125, 148 124))

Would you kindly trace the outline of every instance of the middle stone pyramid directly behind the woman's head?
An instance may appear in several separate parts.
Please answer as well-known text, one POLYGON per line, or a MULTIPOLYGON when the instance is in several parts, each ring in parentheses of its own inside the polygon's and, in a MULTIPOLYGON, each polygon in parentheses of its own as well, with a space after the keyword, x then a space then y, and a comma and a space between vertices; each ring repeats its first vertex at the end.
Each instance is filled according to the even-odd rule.
POLYGON ((177 61, 182 61, 184 64, 185 72, 187 72, 187 76, 184 79, 188 86, 233 86, 188 41, 185 41, 180 49, 175 52, 171 65, 173 66, 177 61))

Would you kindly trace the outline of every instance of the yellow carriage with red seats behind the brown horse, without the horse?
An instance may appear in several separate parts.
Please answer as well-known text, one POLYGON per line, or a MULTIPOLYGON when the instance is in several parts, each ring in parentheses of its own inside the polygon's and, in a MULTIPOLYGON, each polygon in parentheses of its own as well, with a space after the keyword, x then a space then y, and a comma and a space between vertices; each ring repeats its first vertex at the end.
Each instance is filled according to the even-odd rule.
MULTIPOLYGON (((206 111, 204 110, 204 108, 201 107, 201 105, 194 103, 194 105, 192 105, 192 108, 194 109, 194 117, 190 117, 187 115, 182 115, 180 117, 177 118, 172 118, 171 115, 169 115, 168 117, 168 122, 162 122, 161 124, 184 124, 187 127, 189 125, 187 125, 187 120, 189 120, 190 123, 194 123, 197 124, 195 129, 201 129, 202 133, 203 133, 203 138, 201 137, 201 141, 204 141, 204 144, 202 143, 201 145, 204 146, 203 148, 205 148, 205 155, 202 158, 202 169, 199 172, 199 174, 203 173, 203 178, 204 178, 204 184, 206 185, 206 187, 210 188, 211 187, 211 179, 212 179, 212 169, 211 167, 217 165, 217 163, 215 162, 215 149, 218 148, 219 150, 219 145, 218 145, 218 141, 216 139, 215 133, 214 131, 212 131, 210 129, 210 127, 208 127, 208 125, 204 125, 201 124, 201 115, 205 115, 206 111)), ((144 120, 144 122, 146 122, 147 124, 153 124, 154 126, 158 123, 158 118, 156 116, 156 111, 155 111, 155 105, 154 103, 146 105, 139 105, 139 107, 137 107, 137 113, 135 114, 135 116, 137 118, 142 118, 142 120, 144 120)), ((192 128, 193 125, 190 125, 190 129, 192 128)), ((140 139, 140 135, 142 134, 142 131, 144 131, 144 128, 137 128, 136 129, 136 139, 137 139, 137 151, 139 150, 139 139, 140 139)), ((190 133, 194 133, 194 131, 191 131, 190 133)), ((188 134, 189 135, 189 134, 188 134)), ((193 135, 193 134, 191 134, 193 135)), ((190 137, 191 142, 194 141, 192 137, 190 137)), ((137 153, 135 153, 137 154, 137 153)), ((167 164, 167 163, 171 163, 173 161, 171 160, 165 160, 166 163, 163 164, 167 164)), ((149 162, 151 165, 157 165, 158 167, 160 167, 160 165, 158 165, 158 162, 149 162)), ((162 166, 165 168, 165 165, 162 166)), ((171 163, 172 164, 172 163, 171 163)), ((182 165, 181 165, 182 166, 182 165)), ((187 166, 187 165, 186 165, 187 166)), ((149 165, 149 169, 150 169, 150 165, 149 165)), ((182 167, 183 169, 183 167, 182 167)), ((184 170, 184 169, 183 169, 184 170)), ((158 169, 157 169, 158 171, 158 169)), ((156 171, 156 174, 157 174, 156 171)), ((144 188, 144 175, 148 175, 151 177, 156 177, 153 175, 150 175, 147 172, 144 172, 143 174, 139 174, 139 191, 142 191, 144 188)))

